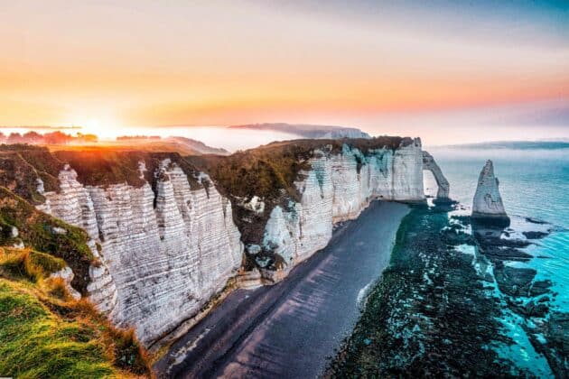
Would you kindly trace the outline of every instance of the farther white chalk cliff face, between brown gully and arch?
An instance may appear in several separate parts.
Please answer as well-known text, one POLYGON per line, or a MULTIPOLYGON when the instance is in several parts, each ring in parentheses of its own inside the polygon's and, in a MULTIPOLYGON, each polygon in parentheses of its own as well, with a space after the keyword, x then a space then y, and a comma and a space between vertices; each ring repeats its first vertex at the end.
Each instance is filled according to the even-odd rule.
POLYGON ((362 153, 348 144, 341 153, 320 150, 310 167, 300 172, 303 180, 294 183, 300 201, 273 208, 261 246, 247 246, 265 279, 281 279, 294 264, 322 249, 331 239, 333 224, 358 217, 372 199, 424 199, 419 139, 395 150, 362 153), (267 251, 277 259, 262 253, 267 251))

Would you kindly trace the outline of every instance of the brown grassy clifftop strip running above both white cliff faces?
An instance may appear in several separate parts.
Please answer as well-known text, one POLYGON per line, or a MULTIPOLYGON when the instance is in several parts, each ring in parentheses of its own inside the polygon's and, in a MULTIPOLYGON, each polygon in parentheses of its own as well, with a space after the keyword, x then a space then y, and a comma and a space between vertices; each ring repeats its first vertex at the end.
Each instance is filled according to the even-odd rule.
MULTIPOLYGON (((238 197, 253 195, 275 198, 278 189, 284 189, 295 197, 294 180, 298 171, 305 169, 306 161, 316 149, 340 153, 344 143, 358 148, 362 153, 386 148, 395 150, 413 143, 411 138, 375 137, 358 139, 293 140, 269 143, 229 156, 187 156, 166 149, 158 151, 162 144, 126 144, 107 146, 58 146, 47 148, 28 144, 0 145, 0 184, 14 190, 24 199, 41 203, 37 178, 41 178, 46 191, 59 189, 59 172, 65 163, 78 173, 79 182, 86 185, 110 185, 126 182, 140 187, 145 180, 154 183, 154 172, 160 161, 170 159, 188 174, 192 188, 199 187, 193 174, 208 171, 219 182, 222 191, 238 197), (50 151, 51 150, 51 151, 50 151), (139 162, 145 162, 145 180, 140 178, 139 162), (243 184, 246 183, 247 186, 243 184)), ((186 152, 187 153, 187 152, 186 152)), ((190 154, 191 155, 191 154, 190 154)))

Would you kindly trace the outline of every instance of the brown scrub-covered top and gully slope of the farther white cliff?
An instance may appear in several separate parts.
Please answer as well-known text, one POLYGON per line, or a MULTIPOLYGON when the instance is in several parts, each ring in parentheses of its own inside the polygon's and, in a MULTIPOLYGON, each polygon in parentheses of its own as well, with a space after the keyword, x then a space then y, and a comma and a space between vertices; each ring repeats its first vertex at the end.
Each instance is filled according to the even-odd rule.
POLYGON ((414 143, 412 138, 387 136, 370 139, 292 140, 268 143, 229 156, 201 155, 185 159, 201 171, 208 172, 219 192, 231 200, 234 221, 243 241, 258 242, 275 205, 286 207, 289 199, 300 201, 294 181, 299 179, 300 171, 310 169, 309 160, 315 150, 341 153, 343 145, 348 144, 367 154, 370 150, 396 150, 411 143, 414 143), (244 199, 252 199, 254 196, 263 199, 265 212, 257 214, 242 206, 244 199))

